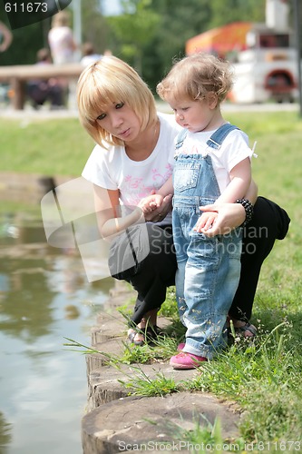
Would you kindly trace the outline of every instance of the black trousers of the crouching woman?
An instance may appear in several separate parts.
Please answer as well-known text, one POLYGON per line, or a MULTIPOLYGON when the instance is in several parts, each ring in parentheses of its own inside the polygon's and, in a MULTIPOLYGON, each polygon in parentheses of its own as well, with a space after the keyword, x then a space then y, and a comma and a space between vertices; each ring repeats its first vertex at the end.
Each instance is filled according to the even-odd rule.
MULTIPOLYGON (((250 319, 261 265, 268 257, 275 240, 282 240, 286 236, 289 222, 285 210, 275 202, 258 197, 253 219, 243 232, 239 287, 229 310, 232 318, 242 321, 250 319)), ((113 242, 109 259, 112 277, 130 282, 138 292, 132 315, 133 324, 139 323, 148 311, 160 309, 166 299, 167 287, 175 283, 177 268, 170 226, 162 228, 152 222, 142 225, 146 229, 143 241, 149 243, 147 248, 144 248, 149 251, 146 257, 141 261, 137 260, 140 255, 137 250, 141 249, 141 244, 139 240, 136 244, 132 241, 133 234, 135 236, 135 232, 138 232, 135 229, 140 229, 136 227, 134 231, 124 233, 118 241, 113 242), (123 269, 125 267, 122 267, 121 262, 127 251, 132 254, 134 264, 123 269), (120 263, 118 270, 117 262, 120 263)))

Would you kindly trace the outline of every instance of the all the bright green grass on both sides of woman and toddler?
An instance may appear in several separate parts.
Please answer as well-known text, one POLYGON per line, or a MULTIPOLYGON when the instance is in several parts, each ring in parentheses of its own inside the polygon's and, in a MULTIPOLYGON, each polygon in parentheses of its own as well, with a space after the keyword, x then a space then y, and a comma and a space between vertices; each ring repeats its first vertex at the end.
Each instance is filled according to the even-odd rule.
MULTIPOLYGON (((268 443, 271 443, 270 452, 299 451, 302 450, 302 120, 296 113, 287 112, 228 114, 227 118, 248 133, 251 144, 258 141, 253 176, 259 194, 283 206, 291 224, 287 238, 276 242, 261 270, 252 319, 258 326, 257 341, 250 345, 236 340, 229 350, 205 364, 197 378, 185 387, 238 402, 245 410, 240 434, 246 443, 255 443, 253 452, 268 452, 268 443), (289 441, 301 442, 301 448, 290 445, 289 441)), ((25 127, 18 122, 2 121, 0 135, 2 170, 7 171, 78 176, 93 148, 92 140, 76 120, 29 123, 25 127)), ((169 359, 182 334, 175 317, 173 289, 161 313, 172 321, 167 338, 153 349, 127 346, 124 357, 114 359, 115 362, 139 363, 142 357, 148 361, 169 359)), ((136 381, 132 379, 132 389, 141 395, 154 392, 161 395, 165 390, 181 390, 181 386, 161 375, 153 383, 140 373, 136 381)))

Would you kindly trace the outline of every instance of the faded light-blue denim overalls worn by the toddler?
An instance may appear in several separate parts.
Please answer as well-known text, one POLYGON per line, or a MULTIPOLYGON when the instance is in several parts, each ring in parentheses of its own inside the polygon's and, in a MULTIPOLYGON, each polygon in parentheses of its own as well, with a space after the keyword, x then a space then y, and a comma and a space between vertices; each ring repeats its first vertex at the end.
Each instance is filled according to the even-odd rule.
MULTIPOLYGON (((232 129, 237 128, 222 125, 207 144, 219 149, 232 129)), ((179 134, 176 154, 185 133, 179 134)), ((241 229, 213 238, 193 231, 200 205, 218 199, 219 184, 209 155, 180 153, 175 160, 172 226, 178 262, 176 297, 180 320, 187 328, 183 350, 211 359, 225 345, 224 325, 239 284, 241 229)))

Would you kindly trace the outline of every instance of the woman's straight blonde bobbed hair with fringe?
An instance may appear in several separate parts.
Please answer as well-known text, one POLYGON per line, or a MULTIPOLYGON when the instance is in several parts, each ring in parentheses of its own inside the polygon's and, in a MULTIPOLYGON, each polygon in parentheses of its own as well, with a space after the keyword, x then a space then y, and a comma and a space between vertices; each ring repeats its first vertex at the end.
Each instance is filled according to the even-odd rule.
POLYGON ((77 84, 80 122, 96 143, 123 142, 102 128, 97 117, 113 103, 124 103, 141 120, 141 131, 157 122, 153 94, 140 75, 115 56, 103 56, 83 70, 77 84))

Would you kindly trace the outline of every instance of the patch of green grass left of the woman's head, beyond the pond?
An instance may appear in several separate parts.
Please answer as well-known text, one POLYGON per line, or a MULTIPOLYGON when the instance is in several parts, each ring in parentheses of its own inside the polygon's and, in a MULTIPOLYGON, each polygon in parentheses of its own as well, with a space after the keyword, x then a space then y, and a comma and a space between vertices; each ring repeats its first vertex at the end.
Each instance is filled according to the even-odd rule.
POLYGON ((77 119, 0 123, 1 171, 80 176, 93 139, 77 119))

